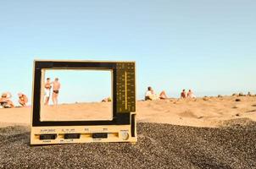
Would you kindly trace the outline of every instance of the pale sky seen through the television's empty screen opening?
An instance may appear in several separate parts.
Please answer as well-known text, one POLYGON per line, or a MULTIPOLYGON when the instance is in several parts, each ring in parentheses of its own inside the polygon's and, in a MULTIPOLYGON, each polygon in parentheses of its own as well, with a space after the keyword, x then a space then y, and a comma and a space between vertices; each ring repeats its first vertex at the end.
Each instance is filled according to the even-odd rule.
POLYGON ((109 70, 47 70, 45 79, 58 77, 58 103, 98 102, 112 94, 111 75, 109 70))

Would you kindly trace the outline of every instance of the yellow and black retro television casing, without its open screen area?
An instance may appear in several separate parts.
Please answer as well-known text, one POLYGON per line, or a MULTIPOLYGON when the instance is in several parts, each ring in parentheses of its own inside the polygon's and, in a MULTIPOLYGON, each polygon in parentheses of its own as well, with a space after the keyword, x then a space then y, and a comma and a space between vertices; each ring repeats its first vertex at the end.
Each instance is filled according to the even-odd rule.
POLYGON ((31 144, 136 143, 136 63, 36 60, 33 68, 31 144), (110 70, 112 120, 41 121, 46 70, 110 70))

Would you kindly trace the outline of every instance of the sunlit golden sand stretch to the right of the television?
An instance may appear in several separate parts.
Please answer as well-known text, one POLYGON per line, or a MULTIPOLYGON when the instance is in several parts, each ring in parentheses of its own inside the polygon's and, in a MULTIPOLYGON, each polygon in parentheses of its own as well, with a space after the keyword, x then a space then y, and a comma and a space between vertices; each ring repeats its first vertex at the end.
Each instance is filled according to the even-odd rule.
POLYGON ((232 119, 256 121, 255 96, 206 97, 195 100, 138 101, 139 122, 215 128, 232 119), (240 99, 241 101, 236 101, 240 99))

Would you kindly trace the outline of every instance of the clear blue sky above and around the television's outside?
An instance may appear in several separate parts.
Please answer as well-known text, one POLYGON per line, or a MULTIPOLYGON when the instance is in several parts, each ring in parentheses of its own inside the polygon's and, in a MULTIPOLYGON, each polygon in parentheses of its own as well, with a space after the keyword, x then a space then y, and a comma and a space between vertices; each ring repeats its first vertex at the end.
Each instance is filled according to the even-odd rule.
POLYGON ((34 59, 134 60, 148 85, 178 96, 256 92, 251 0, 1 1, 0 92, 31 95, 34 59))

